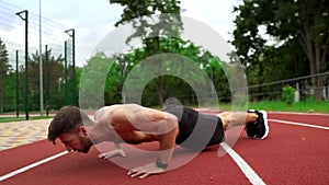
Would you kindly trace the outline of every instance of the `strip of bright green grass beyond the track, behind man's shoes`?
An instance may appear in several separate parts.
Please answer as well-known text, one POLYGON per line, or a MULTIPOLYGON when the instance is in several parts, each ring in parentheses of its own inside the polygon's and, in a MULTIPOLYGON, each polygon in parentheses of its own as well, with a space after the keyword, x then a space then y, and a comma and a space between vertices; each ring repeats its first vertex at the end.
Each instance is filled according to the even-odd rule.
MULTIPOLYGON (((230 111, 230 104, 219 104, 220 109, 230 111)), ((293 105, 287 105, 285 102, 249 102, 248 108, 265 109, 269 112, 294 112, 294 113, 324 113, 329 114, 329 102, 294 102, 293 105)))

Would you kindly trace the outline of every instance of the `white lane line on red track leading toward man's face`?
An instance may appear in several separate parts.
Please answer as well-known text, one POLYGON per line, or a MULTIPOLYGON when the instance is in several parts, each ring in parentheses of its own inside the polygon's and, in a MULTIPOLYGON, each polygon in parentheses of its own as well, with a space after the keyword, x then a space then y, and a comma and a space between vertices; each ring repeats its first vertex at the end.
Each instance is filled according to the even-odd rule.
POLYGON ((13 171, 13 172, 10 172, 10 173, 8 173, 8 174, 5 174, 5 175, 0 176, 0 182, 1 182, 1 181, 4 181, 4 180, 7 180, 7 178, 10 178, 10 177, 12 177, 12 176, 15 176, 15 175, 18 175, 18 174, 20 174, 20 173, 23 173, 23 172, 25 172, 25 171, 29 171, 29 170, 31 170, 31 169, 33 169, 33 167, 36 167, 36 166, 38 166, 38 165, 41 165, 41 164, 43 164, 43 163, 49 162, 49 161, 52 161, 52 160, 55 160, 56 158, 63 157, 63 155, 65 155, 65 154, 67 154, 67 153, 68 153, 68 151, 64 151, 64 152, 61 152, 61 153, 55 154, 55 155, 53 155, 53 157, 49 157, 49 158, 46 158, 46 159, 44 159, 44 160, 37 161, 37 162, 35 162, 35 163, 32 163, 32 164, 30 164, 30 165, 26 165, 26 166, 24 166, 24 167, 22 167, 22 169, 19 169, 19 170, 15 170, 15 171, 13 171))

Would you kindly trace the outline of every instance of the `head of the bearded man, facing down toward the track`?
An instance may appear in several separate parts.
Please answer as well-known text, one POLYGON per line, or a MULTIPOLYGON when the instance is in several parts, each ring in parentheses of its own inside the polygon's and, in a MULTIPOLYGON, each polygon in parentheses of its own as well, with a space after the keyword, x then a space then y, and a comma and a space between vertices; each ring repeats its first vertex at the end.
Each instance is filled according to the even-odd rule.
POLYGON ((92 146, 87 127, 93 124, 88 115, 76 106, 64 106, 48 127, 48 140, 56 143, 59 138, 68 151, 87 153, 92 146))

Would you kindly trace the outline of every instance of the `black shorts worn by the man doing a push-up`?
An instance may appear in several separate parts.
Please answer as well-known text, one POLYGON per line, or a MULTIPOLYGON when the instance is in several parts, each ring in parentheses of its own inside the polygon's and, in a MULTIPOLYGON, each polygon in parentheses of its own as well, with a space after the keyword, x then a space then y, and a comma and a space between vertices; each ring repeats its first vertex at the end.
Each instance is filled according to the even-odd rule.
POLYGON ((183 106, 168 106, 164 112, 179 119, 177 144, 188 149, 204 149, 223 141, 224 129, 219 117, 183 106))

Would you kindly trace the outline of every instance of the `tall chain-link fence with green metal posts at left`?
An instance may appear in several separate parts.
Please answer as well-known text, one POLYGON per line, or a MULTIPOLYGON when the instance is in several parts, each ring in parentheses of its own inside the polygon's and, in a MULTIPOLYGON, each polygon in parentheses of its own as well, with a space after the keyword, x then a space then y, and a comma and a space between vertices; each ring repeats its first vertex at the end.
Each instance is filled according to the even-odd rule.
POLYGON ((67 95, 75 86, 70 80, 75 48, 66 30, 39 14, 0 1, 0 39, 7 51, 1 59, 7 69, 1 79, 0 112, 49 111, 75 104, 72 95, 67 95))

